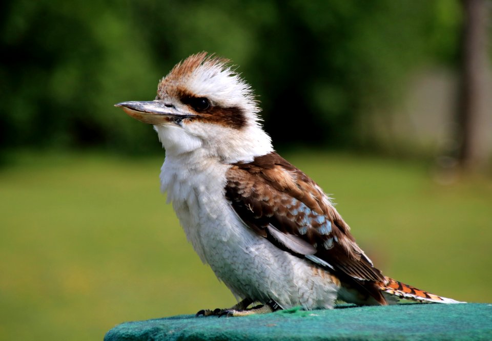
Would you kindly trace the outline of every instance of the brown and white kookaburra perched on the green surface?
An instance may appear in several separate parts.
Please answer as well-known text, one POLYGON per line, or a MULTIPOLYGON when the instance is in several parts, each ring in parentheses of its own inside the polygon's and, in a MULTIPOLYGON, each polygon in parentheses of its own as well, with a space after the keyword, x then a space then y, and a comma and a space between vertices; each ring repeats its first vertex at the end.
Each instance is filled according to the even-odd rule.
POLYGON ((226 58, 200 52, 163 77, 151 101, 115 104, 154 126, 160 187, 203 263, 234 294, 197 316, 418 302, 460 303, 373 265, 320 186, 275 152, 251 86, 226 58))

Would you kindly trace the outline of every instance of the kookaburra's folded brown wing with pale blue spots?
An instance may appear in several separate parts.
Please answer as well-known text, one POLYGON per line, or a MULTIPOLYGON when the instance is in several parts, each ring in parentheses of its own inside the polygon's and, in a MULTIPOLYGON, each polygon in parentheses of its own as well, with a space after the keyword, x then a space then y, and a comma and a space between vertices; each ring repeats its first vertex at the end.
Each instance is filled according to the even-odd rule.
POLYGON ((236 163, 226 176, 228 200, 259 235, 358 282, 385 281, 320 187, 277 153, 236 163))

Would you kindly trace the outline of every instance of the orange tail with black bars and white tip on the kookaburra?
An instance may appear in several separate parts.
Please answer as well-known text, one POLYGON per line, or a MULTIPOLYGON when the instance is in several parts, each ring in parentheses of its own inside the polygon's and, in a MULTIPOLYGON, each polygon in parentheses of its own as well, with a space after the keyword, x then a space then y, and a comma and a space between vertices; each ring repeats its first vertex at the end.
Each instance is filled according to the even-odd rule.
POLYGON ((417 289, 411 285, 395 281, 392 278, 385 277, 386 283, 380 283, 381 291, 398 296, 401 299, 412 300, 417 302, 434 302, 434 303, 465 303, 447 299, 430 292, 417 289))

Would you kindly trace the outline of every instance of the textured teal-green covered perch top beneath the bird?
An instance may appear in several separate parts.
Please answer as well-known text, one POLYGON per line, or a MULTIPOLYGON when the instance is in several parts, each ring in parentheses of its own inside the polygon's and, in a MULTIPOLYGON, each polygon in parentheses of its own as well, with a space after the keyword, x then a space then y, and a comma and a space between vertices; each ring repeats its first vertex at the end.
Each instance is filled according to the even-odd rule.
POLYGON ((179 315, 126 322, 105 341, 122 340, 492 340, 492 304, 401 304, 298 308, 244 317, 179 315))

